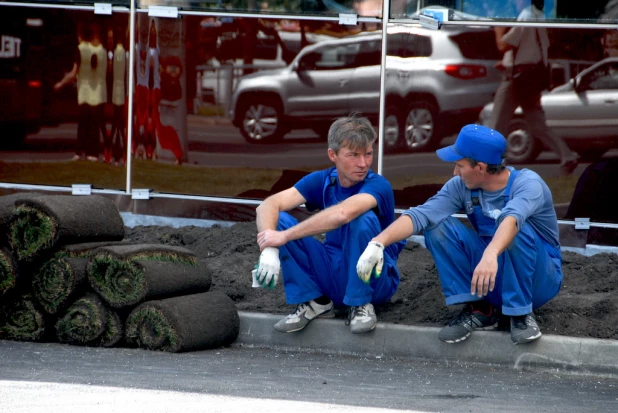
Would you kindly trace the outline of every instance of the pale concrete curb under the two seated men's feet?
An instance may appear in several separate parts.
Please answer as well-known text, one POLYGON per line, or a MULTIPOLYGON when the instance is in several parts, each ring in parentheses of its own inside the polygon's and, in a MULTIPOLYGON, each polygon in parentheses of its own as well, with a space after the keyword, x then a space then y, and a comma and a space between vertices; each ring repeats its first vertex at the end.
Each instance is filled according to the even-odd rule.
POLYGON ((370 357, 402 357, 442 363, 485 363, 516 369, 618 377, 618 341, 543 335, 514 345, 507 332, 477 331, 459 344, 438 340, 437 327, 378 323, 367 334, 352 334, 341 319, 315 320, 305 330, 278 333, 281 315, 239 312, 237 345, 370 357))

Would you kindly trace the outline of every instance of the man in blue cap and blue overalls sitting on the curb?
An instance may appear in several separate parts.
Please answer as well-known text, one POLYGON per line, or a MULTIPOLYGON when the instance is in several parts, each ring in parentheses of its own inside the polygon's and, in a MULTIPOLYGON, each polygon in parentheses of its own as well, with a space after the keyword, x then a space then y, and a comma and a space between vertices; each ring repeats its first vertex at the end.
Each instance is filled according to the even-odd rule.
POLYGON ((562 256, 552 195, 535 172, 507 167, 506 140, 479 125, 464 126, 454 145, 436 151, 454 162, 454 177, 423 205, 410 208, 373 238, 357 263, 359 277, 379 275, 382 250, 424 232, 447 305, 464 304, 440 331, 457 343, 511 318, 515 344, 538 339, 533 309, 558 294, 562 256), (465 211, 474 229, 452 217, 465 211), (375 270, 374 270, 375 267, 375 270))

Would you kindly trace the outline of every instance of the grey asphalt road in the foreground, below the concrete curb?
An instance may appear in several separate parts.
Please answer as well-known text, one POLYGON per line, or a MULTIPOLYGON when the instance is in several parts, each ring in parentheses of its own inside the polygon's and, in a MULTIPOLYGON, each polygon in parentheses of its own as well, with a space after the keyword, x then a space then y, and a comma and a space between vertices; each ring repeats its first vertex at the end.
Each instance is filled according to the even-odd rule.
POLYGON ((611 412, 618 380, 238 347, 169 354, 0 341, 0 406, 3 413, 611 412))

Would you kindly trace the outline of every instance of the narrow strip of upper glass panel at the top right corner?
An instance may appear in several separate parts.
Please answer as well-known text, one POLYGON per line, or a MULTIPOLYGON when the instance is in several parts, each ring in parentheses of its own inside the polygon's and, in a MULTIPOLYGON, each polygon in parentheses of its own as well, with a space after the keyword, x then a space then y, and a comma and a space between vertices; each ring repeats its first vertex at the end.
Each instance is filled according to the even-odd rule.
POLYGON ((418 19, 424 10, 442 9, 450 21, 518 20, 615 24, 618 3, 591 0, 391 0, 391 18, 418 19))

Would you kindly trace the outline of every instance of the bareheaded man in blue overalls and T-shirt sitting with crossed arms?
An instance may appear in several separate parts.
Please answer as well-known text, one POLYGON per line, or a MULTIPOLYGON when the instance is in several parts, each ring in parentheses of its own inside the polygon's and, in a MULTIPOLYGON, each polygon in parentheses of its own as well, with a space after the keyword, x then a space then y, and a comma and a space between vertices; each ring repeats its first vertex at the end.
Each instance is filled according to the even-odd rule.
POLYGON ((262 253, 254 277, 272 289, 282 271, 287 302, 297 304, 275 324, 276 331, 299 331, 317 317, 332 318, 334 306, 350 307, 353 333, 371 331, 377 322, 373 304, 397 290, 402 242, 386 249, 382 277, 362 280, 356 273, 363 248, 395 220, 393 189, 370 169, 375 141, 366 118, 336 120, 328 132, 328 157, 335 166, 310 173, 257 208, 262 253), (321 211, 302 222, 285 212, 302 204, 321 211), (324 243, 313 237, 324 233, 324 243))

